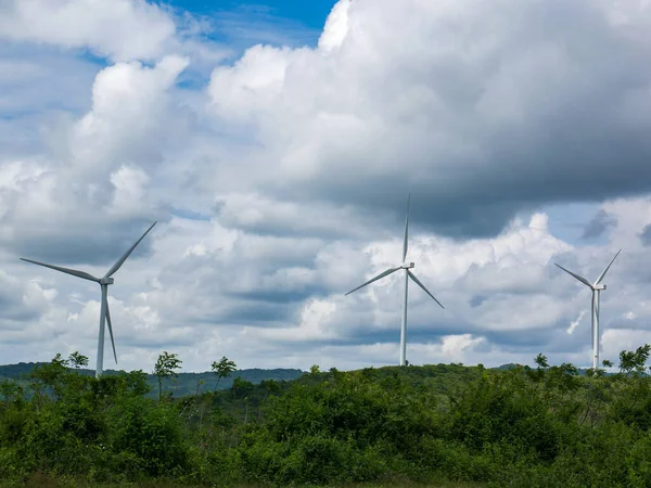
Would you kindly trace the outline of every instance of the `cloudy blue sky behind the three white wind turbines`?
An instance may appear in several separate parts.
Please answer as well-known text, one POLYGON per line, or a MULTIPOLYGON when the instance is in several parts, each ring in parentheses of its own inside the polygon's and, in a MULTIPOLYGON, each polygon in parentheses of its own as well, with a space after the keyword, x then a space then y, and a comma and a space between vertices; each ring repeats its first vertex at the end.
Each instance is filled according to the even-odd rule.
POLYGON ((3 0, 0 363, 591 365, 651 343, 651 3, 3 0), (107 335, 107 334, 106 334, 107 335))

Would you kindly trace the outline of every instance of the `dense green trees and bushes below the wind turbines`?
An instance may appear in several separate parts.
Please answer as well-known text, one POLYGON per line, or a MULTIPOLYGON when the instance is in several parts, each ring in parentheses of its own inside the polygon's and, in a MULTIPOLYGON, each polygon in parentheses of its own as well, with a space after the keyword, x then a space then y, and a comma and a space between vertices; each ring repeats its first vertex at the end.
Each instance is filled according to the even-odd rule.
MULTIPOLYGON (((408 365, 177 397, 181 360, 99 380, 58 355, 0 384, 1 486, 651 487, 650 345, 569 363, 408 365), (612 373, 607 374, 607 369, 612 373)), ((214 383, 235 371, 222 358, 214 383)))

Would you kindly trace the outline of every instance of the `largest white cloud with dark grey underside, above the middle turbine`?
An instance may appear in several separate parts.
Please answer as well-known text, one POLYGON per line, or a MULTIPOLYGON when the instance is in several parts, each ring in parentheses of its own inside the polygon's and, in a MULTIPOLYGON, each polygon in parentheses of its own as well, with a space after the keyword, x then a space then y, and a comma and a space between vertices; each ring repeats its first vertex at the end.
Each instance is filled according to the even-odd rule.
POLYGON ((651 75, 634 9, 340 2, 318 49, 254 47, 208 93, 218 116, 259 132, 278 162, 259 175, 270 191, 386 210, 411 188, 432 228, 485 235, 523 206, 648 190, 651 147, 630 132, 648 130, 636 104, 651 75), (385 36, 396 24, 400 42, 385 36))

